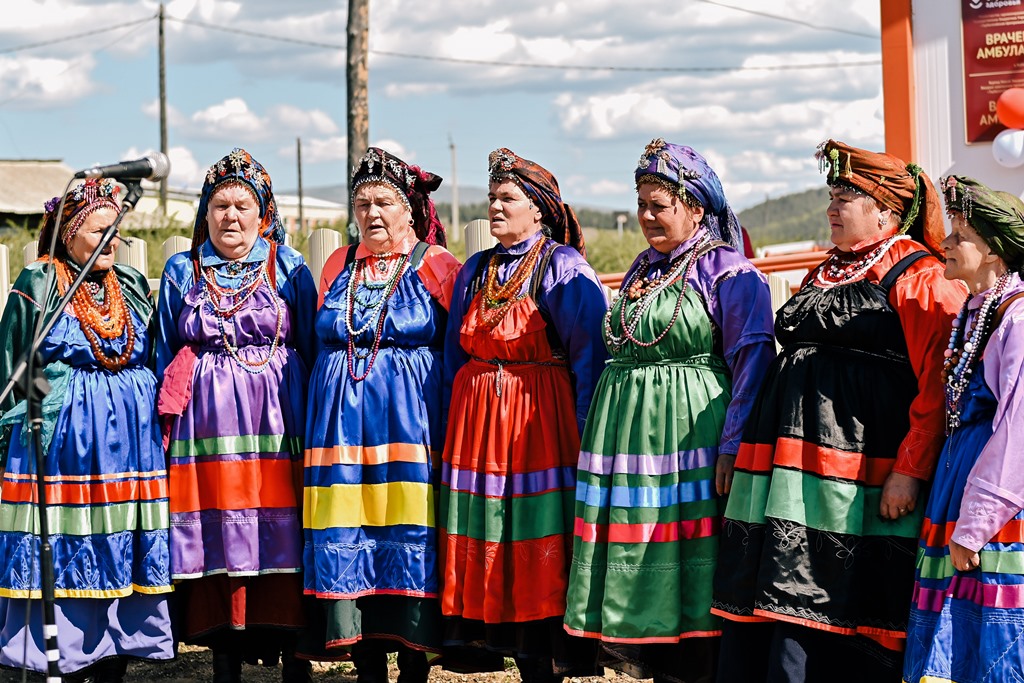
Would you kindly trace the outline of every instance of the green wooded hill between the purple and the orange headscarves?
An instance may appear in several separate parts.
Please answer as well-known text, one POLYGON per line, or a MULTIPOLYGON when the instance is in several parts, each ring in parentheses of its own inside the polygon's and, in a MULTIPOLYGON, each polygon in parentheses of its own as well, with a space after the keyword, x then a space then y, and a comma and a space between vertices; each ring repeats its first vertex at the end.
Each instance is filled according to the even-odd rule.
POLYGON ((828 187, 818 187, 762 202, 738 218, 755 247, 803 240, 827 244, 827 208, 828 187))

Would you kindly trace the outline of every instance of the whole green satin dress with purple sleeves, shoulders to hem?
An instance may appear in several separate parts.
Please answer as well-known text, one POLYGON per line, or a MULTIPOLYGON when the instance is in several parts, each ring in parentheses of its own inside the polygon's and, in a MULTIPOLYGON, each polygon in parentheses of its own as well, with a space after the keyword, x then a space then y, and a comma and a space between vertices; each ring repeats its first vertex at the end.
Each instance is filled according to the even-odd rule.
POLYGON ((775 355, 771 329, 764 276, 705 228, 671 254, 643 252, 608 312, 611 361, 583 435, 565 629, 600 639, 630 673, 714 674, 715 463, 739 445, 775 355), (648 291, 631 298, 632 284, 648 291))

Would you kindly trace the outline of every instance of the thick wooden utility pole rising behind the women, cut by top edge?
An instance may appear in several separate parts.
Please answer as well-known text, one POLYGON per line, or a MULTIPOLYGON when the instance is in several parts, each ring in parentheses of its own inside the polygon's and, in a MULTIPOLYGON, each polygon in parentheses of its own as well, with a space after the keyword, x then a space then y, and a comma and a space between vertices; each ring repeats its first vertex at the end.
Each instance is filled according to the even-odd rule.
MULTIPOLYGON (((346 184, 352 181, 352 172, 358 167, 359 159, 370 146, 370 102, 369 102, 369 34, 370 0, 348 0, 348 40, 346 49, 348 62, 345 69, 348 85, 348 175, 346 184)), ((351 187, 349 187, 351 197, 351 187)), ((348 207, 348 241, 355 244, 359 232, 352 220, 352 207, 348 207)))

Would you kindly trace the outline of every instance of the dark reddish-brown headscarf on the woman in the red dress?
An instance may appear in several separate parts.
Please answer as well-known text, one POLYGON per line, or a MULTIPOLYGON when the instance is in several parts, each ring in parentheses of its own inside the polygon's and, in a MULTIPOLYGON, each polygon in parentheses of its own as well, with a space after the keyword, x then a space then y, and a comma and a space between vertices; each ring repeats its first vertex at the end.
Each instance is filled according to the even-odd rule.
POLYGON ((587 256, 583 228, 572 207, 562 202, 558 180, 551 172, 514 152, 501 147, 487 156, 487 173, 490 182, 511 180, 519 185, 526 197, 541 210, 541 221, 551 228, 551 238, 572 247, 587 256))

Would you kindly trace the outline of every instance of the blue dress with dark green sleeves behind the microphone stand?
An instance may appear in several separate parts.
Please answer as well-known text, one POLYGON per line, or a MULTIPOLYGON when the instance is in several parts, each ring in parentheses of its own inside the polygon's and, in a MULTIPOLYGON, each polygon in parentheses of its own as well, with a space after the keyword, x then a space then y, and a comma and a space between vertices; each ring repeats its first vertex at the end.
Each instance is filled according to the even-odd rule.
MULTIPOLYGON (((54 312, 57 292, 47 296, 45 289, 50 267, 36 261, 14 283, 0 322, 0 384, 31 345, 38 317, 54 312)), ((59 267, 68 268, 69 278, 77 272, 74 264, 59 267)), ((120 285, 131 329, 126 326, 114 339, 92 332, 90 341, 69 306, 40 349, 51 385, 43 402, 44 474, 63 673, 115 655, 174 656, 167 469, 155 411, 157 380, 146 367, 153 300, 138 271, 118 264, 110 273, 120 285)), ((101 287, 104 305, 119 305, 109 279, 90 275, 84 287, 96 292, 101 287)), ((46 671, 38 604, 25 623, 26 600, 38 600, 41 593, 36 461, 25 402, 11 400, 5 408, 0 665, 46 671)))

